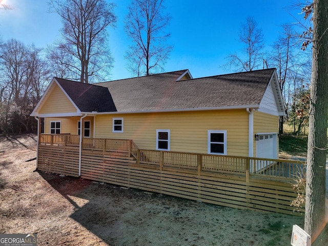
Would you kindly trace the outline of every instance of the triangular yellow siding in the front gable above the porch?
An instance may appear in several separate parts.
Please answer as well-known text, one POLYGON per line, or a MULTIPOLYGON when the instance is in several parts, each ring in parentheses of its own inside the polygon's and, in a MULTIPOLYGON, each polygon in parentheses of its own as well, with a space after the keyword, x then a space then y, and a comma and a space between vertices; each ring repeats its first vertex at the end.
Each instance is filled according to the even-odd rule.
POLYGON ((39 114, 52 114, 52 113, 71 113, 76 112, 76 108, 67 98, 64 92, 54 85, 49 97, 46 99, 44 105, 39 110, 39 114))

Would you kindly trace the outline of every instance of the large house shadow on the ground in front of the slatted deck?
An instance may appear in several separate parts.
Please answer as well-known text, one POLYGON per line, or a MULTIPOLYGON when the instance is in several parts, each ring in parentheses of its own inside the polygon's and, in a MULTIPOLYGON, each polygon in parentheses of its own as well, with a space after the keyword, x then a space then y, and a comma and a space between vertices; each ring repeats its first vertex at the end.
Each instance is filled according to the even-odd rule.
POLYGON ((111 246, 286 245, 293 223, 303 220, 39 174, 74 206, 70 217, 111 246))

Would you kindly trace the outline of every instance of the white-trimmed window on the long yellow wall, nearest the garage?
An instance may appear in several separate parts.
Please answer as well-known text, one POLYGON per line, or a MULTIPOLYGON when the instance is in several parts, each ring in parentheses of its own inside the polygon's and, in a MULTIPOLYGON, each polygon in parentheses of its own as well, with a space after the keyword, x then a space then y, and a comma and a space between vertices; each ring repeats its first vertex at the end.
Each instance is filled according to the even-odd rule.
POLYGON ((208 130, 208 154, 227 155, 227 131, 208 130))

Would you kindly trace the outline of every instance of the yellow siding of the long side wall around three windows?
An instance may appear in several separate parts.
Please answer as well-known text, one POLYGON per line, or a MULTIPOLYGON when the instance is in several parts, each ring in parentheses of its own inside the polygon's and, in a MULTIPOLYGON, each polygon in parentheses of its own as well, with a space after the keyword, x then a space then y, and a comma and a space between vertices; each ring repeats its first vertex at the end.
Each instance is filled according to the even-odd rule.
POLYGON ((156 129, 170 130, 171 151, 207 153, 208 130, 227 130, 227 154, 248 155, 246 110, 97 115, 96 138, 132 139, 140 149, 155 150, 156 129), (124 118, 124 132, 113 133, 113 118, 124 118))

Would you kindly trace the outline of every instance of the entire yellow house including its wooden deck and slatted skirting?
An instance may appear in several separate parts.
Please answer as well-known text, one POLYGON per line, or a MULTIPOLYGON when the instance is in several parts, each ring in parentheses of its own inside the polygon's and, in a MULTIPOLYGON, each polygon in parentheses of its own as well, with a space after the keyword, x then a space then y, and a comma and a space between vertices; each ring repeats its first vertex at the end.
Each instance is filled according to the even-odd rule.
POLYGON ((36 169, 290 214, 291 182, 305 164, 277 159, 283 114, 275 69, 93 85, 53 78, 31 114, 36 169))

